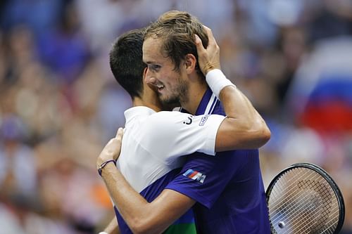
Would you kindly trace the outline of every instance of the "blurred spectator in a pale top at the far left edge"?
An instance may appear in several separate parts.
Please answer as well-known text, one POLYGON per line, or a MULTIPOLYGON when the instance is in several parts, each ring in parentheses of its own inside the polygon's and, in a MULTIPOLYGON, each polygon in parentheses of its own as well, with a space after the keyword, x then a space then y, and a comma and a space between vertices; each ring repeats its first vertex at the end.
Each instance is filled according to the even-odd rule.
POLYGON ((32 148, 21 143, 23 135, 20 119, 5 116, 0 134, 0 186, 4 188, 1 197, 31 207, 37 197, 37 167, 32 148))

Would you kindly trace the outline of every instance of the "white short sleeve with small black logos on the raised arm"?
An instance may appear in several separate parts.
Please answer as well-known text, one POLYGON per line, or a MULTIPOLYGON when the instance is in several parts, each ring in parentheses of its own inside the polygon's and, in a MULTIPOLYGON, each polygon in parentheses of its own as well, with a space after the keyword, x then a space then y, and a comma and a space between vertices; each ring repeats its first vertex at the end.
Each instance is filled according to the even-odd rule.
POLYGON ((139 137, 146 150, 164 159, 192 152, 215 155, 215 138, 223 119, 222 115, 157 112, 145 122, 139 137))

